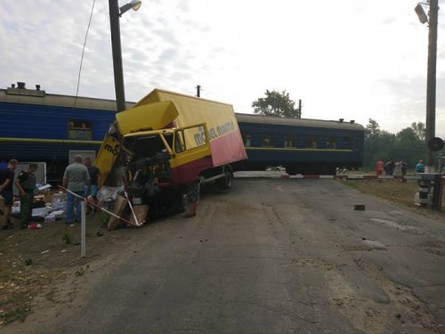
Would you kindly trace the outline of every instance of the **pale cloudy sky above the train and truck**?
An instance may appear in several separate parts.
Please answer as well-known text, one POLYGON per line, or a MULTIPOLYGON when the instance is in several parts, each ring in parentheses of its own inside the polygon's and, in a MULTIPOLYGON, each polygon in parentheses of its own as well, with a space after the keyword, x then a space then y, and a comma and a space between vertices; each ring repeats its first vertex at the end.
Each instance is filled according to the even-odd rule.
MULTIPOLYGON (((0 87, 115 99, 107 0, 0 3, 0 87)), ((122 6, 126 2, 121 1, 122 6)), ((439 5, 441 5, 439 1, 439 5)), ((428 27, 410 0, 143 0, 120 18, 126 101, 154 88, 253 113, 286 91, 302 117, 369 118, 396 134, 425 123, 428 27)), ((445 10, 439 11, 435 134, 445 139, 445 10)))

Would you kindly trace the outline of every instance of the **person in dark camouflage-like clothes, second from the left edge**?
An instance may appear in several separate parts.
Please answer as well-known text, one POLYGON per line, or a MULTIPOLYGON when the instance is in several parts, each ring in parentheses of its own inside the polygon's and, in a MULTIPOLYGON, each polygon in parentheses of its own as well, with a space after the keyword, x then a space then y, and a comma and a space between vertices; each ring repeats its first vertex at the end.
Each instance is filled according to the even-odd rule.
POLYGON ((14 181, 20 192, 20 228, 28 228, 32 218, 34 191, 36 191, 36 164, 29 164, 28 169, 22 170, 14 181))

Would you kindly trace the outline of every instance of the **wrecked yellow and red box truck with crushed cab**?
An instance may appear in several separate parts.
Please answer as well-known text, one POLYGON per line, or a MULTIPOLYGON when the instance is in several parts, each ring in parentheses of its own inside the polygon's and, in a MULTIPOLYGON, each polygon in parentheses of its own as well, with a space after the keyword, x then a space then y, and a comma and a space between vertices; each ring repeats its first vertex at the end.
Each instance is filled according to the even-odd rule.
POLYGON ((230 104, 155 89, 116 118, 96 166, 105 184, 125 184, 151 212, 182 208, 197 179, 230 188, 247 159, 230 104))

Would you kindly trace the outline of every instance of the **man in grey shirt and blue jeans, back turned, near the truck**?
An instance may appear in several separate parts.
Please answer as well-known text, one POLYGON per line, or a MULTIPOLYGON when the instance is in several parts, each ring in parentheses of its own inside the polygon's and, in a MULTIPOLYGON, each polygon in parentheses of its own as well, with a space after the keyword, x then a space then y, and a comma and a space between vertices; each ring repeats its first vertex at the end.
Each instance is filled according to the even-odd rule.
POLYGON ((82 156, 77 155, 73 159, 73 163, 65 169, 62 179, 62 187, 69 190, 67 191, 67 220, 66 224, 74 224, 80 222, 80 201, 77 196, 84 198, 85 187, 89 191, 90 187, 90 175, 88 169, 82 164, 82 156), (71 192, 70 192, 71 191, 71 192), (75 196, 75 193, 77 196, 75 196), (76 208, 76 212, 75 212, 76 208))

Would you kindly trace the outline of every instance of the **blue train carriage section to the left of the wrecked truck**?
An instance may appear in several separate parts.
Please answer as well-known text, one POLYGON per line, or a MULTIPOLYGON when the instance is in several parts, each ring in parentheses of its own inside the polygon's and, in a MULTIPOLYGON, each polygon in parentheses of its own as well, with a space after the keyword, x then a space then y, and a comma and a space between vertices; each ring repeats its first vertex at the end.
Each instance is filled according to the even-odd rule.
POLYGON ((0 160, 42 161, 61 178, 69 151, 97 151, 116 102, 26 88, 0 89, 0 160))

